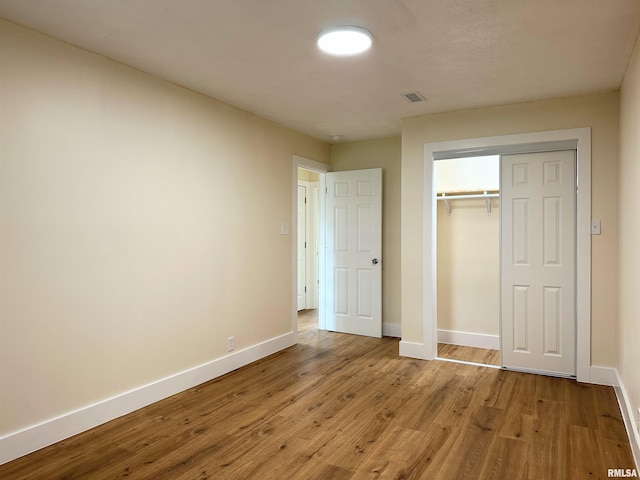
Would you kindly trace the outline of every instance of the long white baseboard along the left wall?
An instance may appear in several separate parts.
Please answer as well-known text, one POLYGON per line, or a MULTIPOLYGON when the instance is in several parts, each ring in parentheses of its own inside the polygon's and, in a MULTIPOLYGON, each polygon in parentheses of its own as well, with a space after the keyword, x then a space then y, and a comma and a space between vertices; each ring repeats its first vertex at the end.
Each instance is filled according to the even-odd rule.
POLYGON ((287 333, 0 437, 0 465, 175 395, 295 344, 287 333))

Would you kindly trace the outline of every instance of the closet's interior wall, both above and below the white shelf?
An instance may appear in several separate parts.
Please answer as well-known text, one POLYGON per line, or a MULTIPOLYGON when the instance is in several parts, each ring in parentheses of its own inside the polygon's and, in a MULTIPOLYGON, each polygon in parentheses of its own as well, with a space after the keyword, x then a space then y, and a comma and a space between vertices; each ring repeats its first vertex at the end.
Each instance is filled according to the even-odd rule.
MULTIPOLYGON (((434 164, 436 192, 499 190, 498 156, 440 160, 434 164)), ((500 325, 500 210, 483 199, 437 203, 437 291, 439 330, 498 335, 500 325)))

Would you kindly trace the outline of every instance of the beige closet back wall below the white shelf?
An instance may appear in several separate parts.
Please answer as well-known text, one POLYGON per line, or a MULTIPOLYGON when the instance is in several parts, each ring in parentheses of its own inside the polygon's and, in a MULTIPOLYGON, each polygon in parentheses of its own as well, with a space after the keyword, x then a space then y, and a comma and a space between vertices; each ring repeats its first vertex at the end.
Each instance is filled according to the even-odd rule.
POLYGON ((491 201, 438 202, 438 329, 498 335, 500 210, 491 201))

